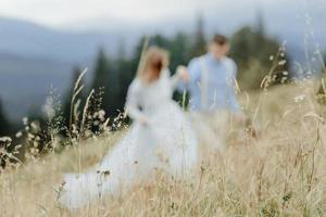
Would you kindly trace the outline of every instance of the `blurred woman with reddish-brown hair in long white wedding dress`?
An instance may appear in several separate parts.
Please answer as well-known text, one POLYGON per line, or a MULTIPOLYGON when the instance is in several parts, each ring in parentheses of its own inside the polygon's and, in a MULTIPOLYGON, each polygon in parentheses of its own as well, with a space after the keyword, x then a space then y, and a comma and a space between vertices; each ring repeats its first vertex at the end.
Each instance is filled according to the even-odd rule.
POLYGON ((126 112, 134 124, 100 164, 86 174, 67 174, 60 203, 70 209, 105 195, 118 196, 145 184, 162 170, 174 179, 191 176, 197 141, 179 106, 172 100, 178 75, 171 77, 166 51, 152 47, 131 82, 126 112))

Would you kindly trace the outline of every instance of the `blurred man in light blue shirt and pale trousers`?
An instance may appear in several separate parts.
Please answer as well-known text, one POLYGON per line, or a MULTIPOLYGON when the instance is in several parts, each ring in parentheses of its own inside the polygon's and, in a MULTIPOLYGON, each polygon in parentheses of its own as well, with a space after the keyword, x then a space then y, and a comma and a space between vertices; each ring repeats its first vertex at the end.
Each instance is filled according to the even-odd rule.
POLYGON ((188 67, 179 66, 183 90, 190 93, 189 110, 201 142, 223 151, 233 119, 246 117, 236 97, 236 63, 226 56, 229 50, 225 36, 215 35, 208 53, 195 58, 188 67))

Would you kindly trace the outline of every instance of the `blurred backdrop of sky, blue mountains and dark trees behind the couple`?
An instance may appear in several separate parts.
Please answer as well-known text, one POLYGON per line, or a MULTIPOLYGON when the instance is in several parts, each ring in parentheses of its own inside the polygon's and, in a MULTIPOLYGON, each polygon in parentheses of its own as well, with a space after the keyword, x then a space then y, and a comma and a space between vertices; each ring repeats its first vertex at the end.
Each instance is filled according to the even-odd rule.
POLYGON ((318 75, 325 10, 324 0, 1 0, 0 136, 25 116, 43 118, 50 91, 67 117, 85 68, 82 95, 103 90, 103 110, 117 115, 145 36, 171 52, 174 72, 203 54, 214 33, 226 35, 243 91, 260 88, 280 48, 278 84, 318 75))

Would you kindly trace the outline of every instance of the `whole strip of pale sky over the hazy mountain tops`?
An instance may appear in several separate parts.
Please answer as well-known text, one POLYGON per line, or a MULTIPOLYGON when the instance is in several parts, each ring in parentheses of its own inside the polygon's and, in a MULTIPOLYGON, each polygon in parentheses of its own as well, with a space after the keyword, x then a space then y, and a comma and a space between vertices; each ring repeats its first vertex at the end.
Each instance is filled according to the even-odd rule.
POLYGON ((324 23, 318 17, 325 17, 326 0, 0 0, 0 17, 86 31, 114 24, 121 27, 171 24, 197 18, 199 13, 204 17, 205 13, 227 17, 220 23, 229 27, 252 22, 259 10, 264 12, 266 21, 272 21, 271 28, 276 29, 283 18, 304 17, 308 9, 312 9, 310 14, 315 23, 324 23))

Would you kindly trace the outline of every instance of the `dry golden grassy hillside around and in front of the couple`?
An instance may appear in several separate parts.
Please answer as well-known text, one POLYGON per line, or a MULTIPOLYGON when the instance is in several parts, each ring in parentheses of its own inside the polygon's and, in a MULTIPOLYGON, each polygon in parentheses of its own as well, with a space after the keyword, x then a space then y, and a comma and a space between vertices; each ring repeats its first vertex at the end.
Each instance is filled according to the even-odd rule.
POLYGON ((158 177, 125 197, 70 213, 59 207, 63 173, 97 163, 122 133, 99 137, 61 154, 0 175, 1 216, 326 216, 325 108, 311 84, 243 94, 260 129, 256 139, 229 138, 221 155, 204 157, 191 180, 158 177), (80 161, 79 161, 80 159, 80 161))

